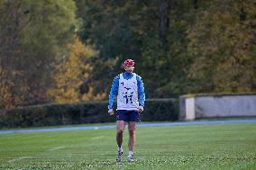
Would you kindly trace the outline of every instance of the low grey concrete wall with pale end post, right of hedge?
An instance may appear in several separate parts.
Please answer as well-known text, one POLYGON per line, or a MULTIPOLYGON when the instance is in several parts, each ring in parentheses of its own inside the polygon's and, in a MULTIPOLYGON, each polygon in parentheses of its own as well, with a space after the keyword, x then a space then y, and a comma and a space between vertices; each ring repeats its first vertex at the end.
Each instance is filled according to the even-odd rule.
POLYGON ((256 117, 256 94, 195 94, 179 97, 179 120, 256 117))

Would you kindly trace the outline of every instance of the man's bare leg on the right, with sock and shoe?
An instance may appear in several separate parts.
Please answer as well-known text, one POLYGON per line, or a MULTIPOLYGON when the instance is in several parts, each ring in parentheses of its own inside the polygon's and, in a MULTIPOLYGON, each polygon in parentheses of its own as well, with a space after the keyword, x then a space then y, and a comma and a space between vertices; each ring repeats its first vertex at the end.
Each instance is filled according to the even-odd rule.
POLYGON ((135 130, 136 130, 136 121, 128 122, 128 130, 129 130, 129 142, 128 142, 128 160, 133 161, 133 149, 135 145, 135 130))

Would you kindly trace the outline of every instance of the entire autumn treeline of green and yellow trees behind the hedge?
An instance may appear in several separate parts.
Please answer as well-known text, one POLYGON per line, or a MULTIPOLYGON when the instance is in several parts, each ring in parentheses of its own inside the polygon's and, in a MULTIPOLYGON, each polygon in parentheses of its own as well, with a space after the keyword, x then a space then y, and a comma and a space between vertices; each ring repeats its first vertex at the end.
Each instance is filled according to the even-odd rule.
POLYGON ((0 0, 0 108, 105 100, 125 58, 147 98, 256 92, 254 0, 0 0))

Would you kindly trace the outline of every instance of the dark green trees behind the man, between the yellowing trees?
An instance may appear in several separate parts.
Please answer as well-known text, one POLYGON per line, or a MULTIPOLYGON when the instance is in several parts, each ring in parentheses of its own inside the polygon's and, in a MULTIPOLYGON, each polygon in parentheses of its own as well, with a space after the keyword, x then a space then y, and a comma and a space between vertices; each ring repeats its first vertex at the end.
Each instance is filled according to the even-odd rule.
POLYGON ((166 11, 168 36, 162 44, 159 35, 162 3, 164 1, 77 1, 78 15, 84 21, 81 38, 93 40, 103 60, 104 69, 96 67, 96 76, 92 77, 96 89, 108 92, 114 75, 122 71, 123 59, 134 58, 135 72, 142 76, 148 98, 185 93, 191 60, 187 59, 186 31, 196 12, 191 1, 173 1, 166 11), (87 4, 87 8, 82 4, 87 4), (114 58, 117 58, 113 62, 116 64, 110 66, 114 58), (105 77, 98 80, 99 75, 105 77), (102 82, 109 84, 102 86, 102 82))

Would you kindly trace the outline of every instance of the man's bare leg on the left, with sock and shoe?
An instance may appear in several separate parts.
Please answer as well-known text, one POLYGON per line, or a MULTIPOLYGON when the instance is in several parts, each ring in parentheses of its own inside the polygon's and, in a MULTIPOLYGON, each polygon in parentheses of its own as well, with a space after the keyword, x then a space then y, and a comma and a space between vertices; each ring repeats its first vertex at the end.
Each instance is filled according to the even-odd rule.
POLYGON ((125 121, 116 121, 116 143, 117 143, 117 156, 115 157, 115 160, 117 162, 121 161, 121 157, 123 155, 123 130, 125 127, 125 121))

